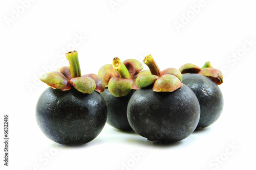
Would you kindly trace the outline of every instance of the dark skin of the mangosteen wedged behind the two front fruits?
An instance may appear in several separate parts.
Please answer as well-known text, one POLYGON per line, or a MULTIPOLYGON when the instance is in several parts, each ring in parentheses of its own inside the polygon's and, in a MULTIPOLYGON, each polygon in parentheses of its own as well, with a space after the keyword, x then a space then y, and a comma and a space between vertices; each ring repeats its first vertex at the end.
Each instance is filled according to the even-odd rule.
POLYGON ((110 93, 108 87, 105 88, 101 95, 103 96, 106 106, 108 107, 108 118, 106 119, 106 123, 122 131, 132 130, 132 127, 127 119, 126 111, 128 102, 135 91, 136 90, 133 89, 125 96, 115 97, 110 93))

